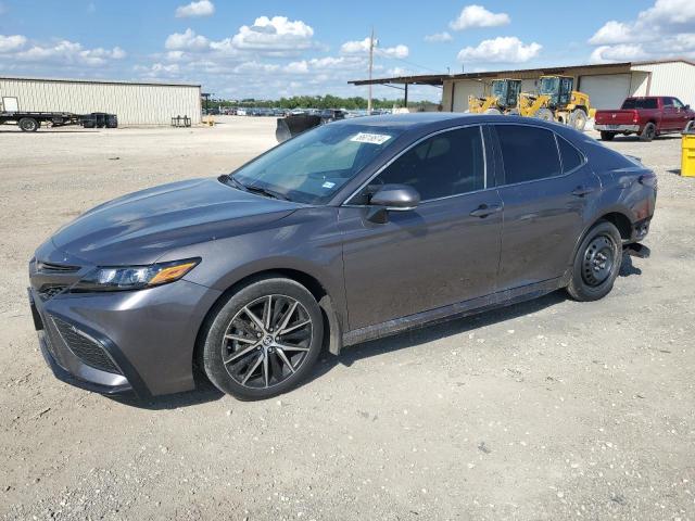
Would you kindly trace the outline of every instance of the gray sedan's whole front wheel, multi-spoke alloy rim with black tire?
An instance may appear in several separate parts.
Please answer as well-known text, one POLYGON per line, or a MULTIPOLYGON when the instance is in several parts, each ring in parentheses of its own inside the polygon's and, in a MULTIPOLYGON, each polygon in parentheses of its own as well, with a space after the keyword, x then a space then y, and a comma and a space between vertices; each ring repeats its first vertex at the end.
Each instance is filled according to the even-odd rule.
POLYGON ((252 282, 208 320, 202 367, 220 391, 263 399, 290 391, 311 372, 324 322, 314 296, 285 278, 252 282))

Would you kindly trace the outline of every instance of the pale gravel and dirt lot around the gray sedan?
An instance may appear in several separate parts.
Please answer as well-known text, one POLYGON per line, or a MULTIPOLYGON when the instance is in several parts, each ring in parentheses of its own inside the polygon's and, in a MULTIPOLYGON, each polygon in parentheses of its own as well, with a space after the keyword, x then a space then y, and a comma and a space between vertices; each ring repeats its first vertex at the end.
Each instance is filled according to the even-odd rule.
POLYGON ((34 249, 78 213, 230 170, 273 119, 0 129, 0 517, 695 519, 695 179, 680 138, 610 147, 654 167, 648 260, 614 292, 540 301, 327 355, 301 389, 149 404, 55 380, 26 303, 34 249))

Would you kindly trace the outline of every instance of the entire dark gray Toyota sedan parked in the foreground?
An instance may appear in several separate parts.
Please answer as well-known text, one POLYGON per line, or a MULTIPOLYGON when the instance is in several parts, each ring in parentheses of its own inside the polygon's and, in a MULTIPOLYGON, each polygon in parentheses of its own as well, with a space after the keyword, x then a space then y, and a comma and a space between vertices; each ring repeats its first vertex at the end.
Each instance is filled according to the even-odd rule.
POLYGON ((647 252, 656 188, 639 161, 538 119, 344 119, 83 214, 30 259, 31 313, 76 385, 147 397, 193 389, 199 367, 267 398, 324 347, 558 289, 602 298, 623 253, 647 252))

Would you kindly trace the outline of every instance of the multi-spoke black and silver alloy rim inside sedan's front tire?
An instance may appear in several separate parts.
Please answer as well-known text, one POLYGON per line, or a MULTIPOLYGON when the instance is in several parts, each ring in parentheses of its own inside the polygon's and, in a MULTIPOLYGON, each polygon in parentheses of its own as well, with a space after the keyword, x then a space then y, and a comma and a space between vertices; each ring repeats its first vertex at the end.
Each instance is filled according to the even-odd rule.
POLYGON ((287 295, 266 295, 243 306, 222 342, 227 373, 251 389, 277 385, 298 371, 314 333, 306 308, 287 295))

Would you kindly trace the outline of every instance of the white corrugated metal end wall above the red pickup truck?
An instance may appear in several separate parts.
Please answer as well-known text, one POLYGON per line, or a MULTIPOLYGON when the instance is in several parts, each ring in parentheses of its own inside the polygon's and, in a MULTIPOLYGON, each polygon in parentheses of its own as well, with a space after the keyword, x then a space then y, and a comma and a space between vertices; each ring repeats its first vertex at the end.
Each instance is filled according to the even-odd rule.
POLYGON ((652 63, 633 65, 632 71, 652 73, 652 78, 641 85, 639 94, 673 96, 695 106, 695 65, 685 62, 652 63))

